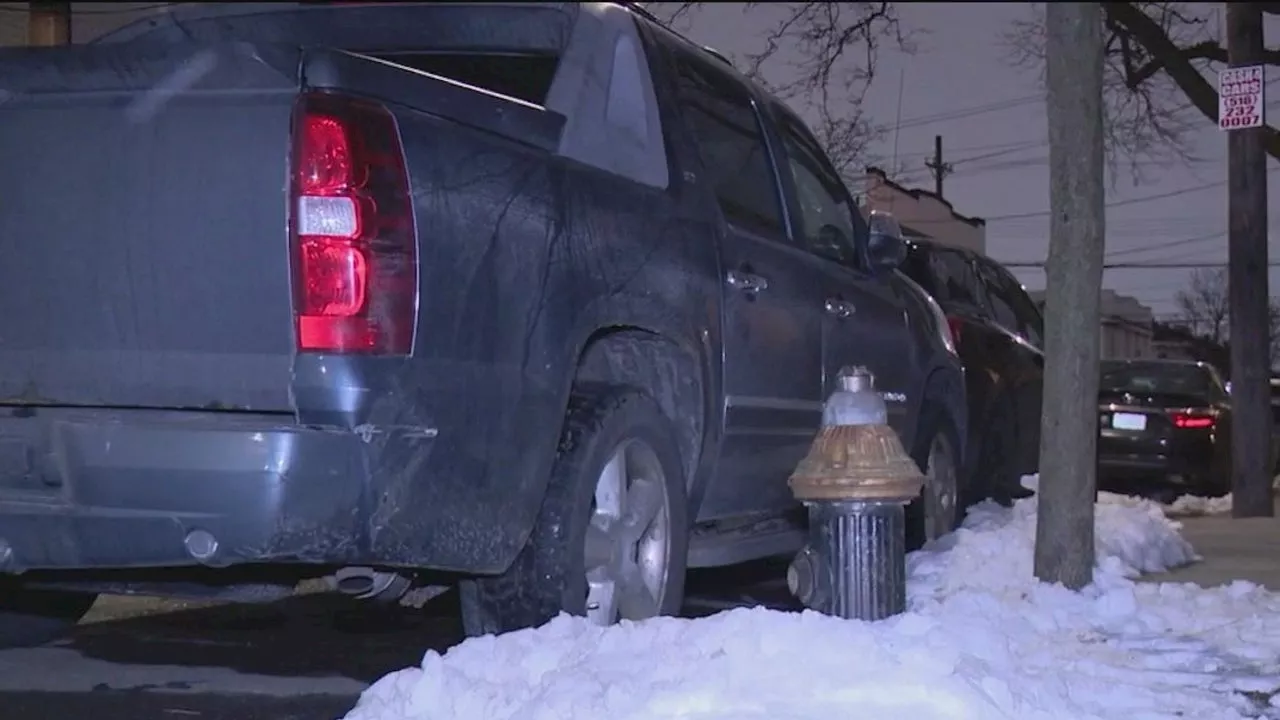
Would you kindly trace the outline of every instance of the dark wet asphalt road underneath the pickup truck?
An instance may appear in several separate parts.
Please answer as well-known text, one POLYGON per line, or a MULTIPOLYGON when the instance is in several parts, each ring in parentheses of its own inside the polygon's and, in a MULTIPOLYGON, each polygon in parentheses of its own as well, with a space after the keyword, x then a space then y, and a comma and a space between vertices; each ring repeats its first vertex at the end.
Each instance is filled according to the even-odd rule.
MULTIPOLYGON (((686 614, 790 606, 781 573, 695 575, 686 614)), ((420 611, 333 594, 270 605, 102 597, 65 641, 0 651, 0 720, 335 720, 369 683, 461 639, 452 593, 420 611)))

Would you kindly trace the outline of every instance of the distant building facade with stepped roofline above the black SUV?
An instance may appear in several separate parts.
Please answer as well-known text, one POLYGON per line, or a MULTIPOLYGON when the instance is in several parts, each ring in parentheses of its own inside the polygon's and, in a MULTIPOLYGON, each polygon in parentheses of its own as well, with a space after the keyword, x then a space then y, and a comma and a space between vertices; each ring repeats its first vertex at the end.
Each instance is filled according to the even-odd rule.
POLYGON ((892 213, 908 240, 931 240, 987 254, 986 220, 956 213, 950 202, 928 190, 897 184, 879 168, 867 168, 859 206, 863 213, 892 213))

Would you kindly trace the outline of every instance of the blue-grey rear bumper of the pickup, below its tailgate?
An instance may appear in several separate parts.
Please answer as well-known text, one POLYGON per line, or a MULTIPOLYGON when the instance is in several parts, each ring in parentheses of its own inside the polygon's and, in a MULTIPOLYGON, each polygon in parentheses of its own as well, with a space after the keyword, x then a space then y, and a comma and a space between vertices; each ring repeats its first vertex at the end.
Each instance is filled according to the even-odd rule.
POLYGON ((269 416, 0 418, 0 571, 352 562, 369 552, 357 434, 269 416))

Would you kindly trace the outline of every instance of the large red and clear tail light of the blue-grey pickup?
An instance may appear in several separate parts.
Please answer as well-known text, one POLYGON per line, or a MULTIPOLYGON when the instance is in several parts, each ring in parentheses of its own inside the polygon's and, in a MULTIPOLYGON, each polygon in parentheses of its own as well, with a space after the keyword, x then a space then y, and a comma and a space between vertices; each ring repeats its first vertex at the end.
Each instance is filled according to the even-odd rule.
POLYGON ((303 95, 293 127, 292 197, 298 350, 407 355, 417 238, 390 113, 339 95, 303 95))

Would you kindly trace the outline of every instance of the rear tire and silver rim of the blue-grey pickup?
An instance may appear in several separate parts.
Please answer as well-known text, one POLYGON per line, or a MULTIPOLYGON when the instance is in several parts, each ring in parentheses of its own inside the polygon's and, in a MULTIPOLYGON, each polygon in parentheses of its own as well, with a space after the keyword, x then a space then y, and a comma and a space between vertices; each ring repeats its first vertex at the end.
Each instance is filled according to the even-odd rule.
POLYGON ((466 634, 538 626, 561 612, 599 624, 678 612, 689 555, 682 468, 652 398, 576 392, 527 544, 506 573, 461 583, 466 634))

